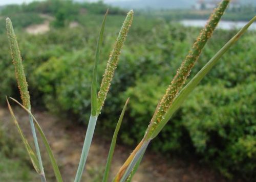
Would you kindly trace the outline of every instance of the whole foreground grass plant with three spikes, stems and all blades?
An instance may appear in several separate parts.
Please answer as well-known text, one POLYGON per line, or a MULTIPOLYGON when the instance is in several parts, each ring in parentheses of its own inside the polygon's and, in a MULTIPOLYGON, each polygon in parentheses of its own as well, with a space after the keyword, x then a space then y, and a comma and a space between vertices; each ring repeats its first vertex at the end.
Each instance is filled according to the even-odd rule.
MULTIPOLYGON (((223 0, 216 10, 211 14, 205 28, 202 29, 200 35, 198 36, 197 40, 195 41, 194 45, 190 49, 187 57, 182 62, 180 68, 178 69, 174 79, 166 89, 165 94, 160 99, 158 106, 156 107, 156 111, 151 119, 150 124, 148 125, 145 135, 141 142, 136 146, 134 151, 130 154, 130 157, 124 162, 123 166, 120 168, 116 176, 114 177, 113 181, 131 181, 133 175, 135 174, 139 164, 143 158, 145 150, 148 144, 154 139, 162 130, 164 125, 172 118, 175 112, 180 108, 182 103, 186 100, 188 95, 196 88, 196 86, 200 83, 203 77, 214 67, 214 65, 220 60, 223 54, 233 45, 236 41, 238 41, 239 37, 246 32, 249 26, 256 20, 256 16, 254 16, 246 25, 243 27, 234 37, 232 37, 219 51, 216 53, 212 59, 210 59, 207 64, 203 66, 203 68, 198 71, 198 73, 184 86, 191 69, 196 64, 197 60, 200 57, 200 54, 207 43, 208 39, 211 37, 212 33, 214 32, 215 28, 217 27, 218 22, 220 21, 225 9, 229 4, 229 0, 223 0), (183 87, 184 86, 184 87, 183 87)), ((78 165, 77 173, 75 176, 74 181, 79 182, 81 181, 82 174, 84 171, 84 166, 86 165, 87 157, 89 154, 91 142, 93 139, 94 129, 96 126, 96 122, 98 116, 101 112, 102 107, 104 106, 104 101, 106 96, 109 92, 109 88, 111 85, 111 81, 114 76, 115 69, 117 68, 119 56, 121 53, 122 46, 124 44, 125 38, 127 33, 129 32, 129 28, 131 27, 133 21, 133 11, 131 10, 122 25, 122 28, 118 34, 116 42, 114 44, 113 50, 110 53, 110 57, 108 63, 106 65, 105 72, 103 74, 103 79, 101 81, 100 89, 97 94, 97 67, 100 60, 100 49, 102 46, 103 41, 103 34, 104 34, 104 27, 106 22, 106 16, 108 11, 106 12, 102 25, 101 30, 99 33, 98 41, 96 44, 96 53, 95 53, 95 63, 94 69, 92 73, 92 85, 91 85, 91 116, 86 132, 86 136, 84 139, 84 145, 81 152, 81 158, 78 165)), ((30 159, 32 164, 36 170, 36 172, 40 175, 41 181, 46 181, 46 177, 44 174, 44 168, 42 167, 42 161, 40 157, 39 146, 37 142, 37 137, 35 133, 35 128, 38 130, 44 145, 46 146, 47 152, 49 154, 49 158, 51 164, 54 169, 55 177, 57 181, 62 181, 61 174, 59 172, 56 160, 54 158, 53 152, 50 148, 50 145, 47 141, 47 138, 42 132, 41 127, 39 126, 38 121, 31 113, 31 104, 30 104, 30 96, 28 91, 28 84, 26 81, 26 76, 24 73, 24 68, 22 65, 22 58, 20 57, 20 51, 18 48, 17 40, 12 28, 11 20, 9 18, 6 19, 7 23, 7 35, 10 42, 10 50, 13 59, 13 64, 15 67, 16 73, 16 80, 18 84, 18 88, 20 90, 20 97, 22 98, 23 104, 19 103, 17 100, 11 98, 19 106, 21 106, 24 110, 26 110, 29 114, 29 120, 31 124, 32 134, 35 143, 36 154, 35 155, 32 147, 29 145, 26 137, 24 136, 22 129, 20 129, 17 119, 14 116, 10 103, 7 99, 8 107, 12 118, 17 126, 18 132, 22 137, 22 140, 26 146, 26 149, 29 153, 30 159)), ((115 143, 117 140, 118 131, 120 129, 120 125, 124 116, 125 109, 127 107, 129 99, 125 102, 123 110, 121 112, 120 118, 117 122, 116 129, 113 135, 113 139, 110 146, 110 151, 108 155, 108 159, 105 166, 105 172, 102 181, 106 182, 109 180, 109 172, 111 167, 111 161, 113 158, 115 143)))

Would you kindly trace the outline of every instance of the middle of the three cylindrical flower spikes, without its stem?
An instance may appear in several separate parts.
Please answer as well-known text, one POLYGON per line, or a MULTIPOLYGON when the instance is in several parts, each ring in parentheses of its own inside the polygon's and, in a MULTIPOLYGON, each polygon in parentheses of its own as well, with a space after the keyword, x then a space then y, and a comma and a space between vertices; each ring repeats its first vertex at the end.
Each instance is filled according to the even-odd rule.
POLYGON ((133 10, 131 10, 127 14, 127 16, 123 22, 122 28, 118 34, 117 39, 116 39, 116 42, 114 44, 114 48, 110 53, 110 57, 109 57, 107 65, 106 65, 105 73, 103 75, 100 90, 98 93, 98 99, 97 99, 97 113, 98 114, 100 113, 101 108, 104 105, 104 101, 106 99, 106 94, 109 91, 110 84, 111 84, 115 69, 118 64, 119 55, 121 53, 123 43, 125 41, 127 33, 129 31, 129 28, 131 27, 132 21, 133 21, 133 10))

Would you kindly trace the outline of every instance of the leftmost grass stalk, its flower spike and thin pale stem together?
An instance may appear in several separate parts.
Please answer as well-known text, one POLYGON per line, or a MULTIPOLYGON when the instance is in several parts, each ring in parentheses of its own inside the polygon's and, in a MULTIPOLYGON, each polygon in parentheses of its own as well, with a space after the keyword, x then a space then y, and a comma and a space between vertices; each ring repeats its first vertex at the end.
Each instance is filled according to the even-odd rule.
MULTIPOLYGON (((12 27, 12 22, 10 18, 6 18, 6 30, 7 30, 7 36, 10 44, 10 50, 11 50, 11 57, 13 61, 13 65, 15 68, 15 75, 16 80, 20 92, 20 97, 22 98, 23 105, 28 109, 31 110, 31 104, 30 104, 30 95, 28 91, 28 83, 26 81, 26 76, 24 73, 24 68, 22 65, 22 57, 20 56, 20 51, 18 47, 18 42, 12 27)), ((39 162, 40 167, 40 177, 41 181, 46 181, 44 167, 42 166, 42 160, 41 160, 41 154, 40 149, 37 141, 37 136, 35 132, 35 126, 33 122, 33 118, 29 115, 29 122, 31 126, 31 131, 34 139, 36 154, 39 162)))

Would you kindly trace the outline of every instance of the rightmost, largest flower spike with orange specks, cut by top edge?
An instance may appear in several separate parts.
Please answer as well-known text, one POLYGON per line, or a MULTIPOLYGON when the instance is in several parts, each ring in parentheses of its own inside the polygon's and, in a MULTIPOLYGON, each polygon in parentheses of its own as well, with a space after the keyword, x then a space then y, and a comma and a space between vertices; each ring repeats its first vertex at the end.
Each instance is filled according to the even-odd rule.
POLYGON ((214 32, 215 28, 217 27, 217 24, 220 21, 220 18, 222 17, 225 9, 227 8, 229 1, 230 0, 223 0, 214 10, 214 12, 209 17, 205 28, 201 30, 196 42, 194 43, 191 50, 189 50, 187 57, 182 62, 180 68, 174 76, 172 83, 169 85, 164 96, 160 100, 160 105, 158 107, 156 117, 154 121, 152 120, 152 122, 154 123, 152 124, 152 128, 150 129, 151 131, 153 131, 157 123, 159 123, 163 119, 164 114, 172 105, 181 87, 185 84, 185 81, 187 80, 191 69, 197 62, 207 40, 211 37, 212 32, 214 32))

